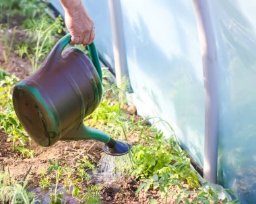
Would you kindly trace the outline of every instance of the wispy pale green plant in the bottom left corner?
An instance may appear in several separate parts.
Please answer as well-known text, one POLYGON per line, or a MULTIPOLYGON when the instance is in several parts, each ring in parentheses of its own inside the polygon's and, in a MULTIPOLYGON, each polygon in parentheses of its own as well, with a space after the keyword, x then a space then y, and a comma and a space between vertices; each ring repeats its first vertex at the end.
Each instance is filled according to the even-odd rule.
MULTIPOLYGON (((30 167, 31 168, 31 167, 30 167)), ((36 203, 36 197, 33 193, 26 191, 28 183, 27 176, 30 168, 26 172, 22 181, 17 181, 13 178, 9 171, 5 171, 3 164, 2 172, 0 172, 0 202, 1 203, 36 203)))

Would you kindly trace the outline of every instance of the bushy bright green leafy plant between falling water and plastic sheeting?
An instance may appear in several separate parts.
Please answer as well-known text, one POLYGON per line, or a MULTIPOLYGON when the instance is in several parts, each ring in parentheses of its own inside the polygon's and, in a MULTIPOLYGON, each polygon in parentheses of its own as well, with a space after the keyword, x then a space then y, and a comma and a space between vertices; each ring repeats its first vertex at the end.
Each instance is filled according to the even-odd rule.
POLYGON ((137 178, 151 178, 154 174, 161 176, 172 174, 190 185, 199 183, 197 174, 190 166, 186 152, 182 151, 174 138, 165 139, 162 132, 156 136, 143 138, 144 143, 133 147, 133 172, 137 178))

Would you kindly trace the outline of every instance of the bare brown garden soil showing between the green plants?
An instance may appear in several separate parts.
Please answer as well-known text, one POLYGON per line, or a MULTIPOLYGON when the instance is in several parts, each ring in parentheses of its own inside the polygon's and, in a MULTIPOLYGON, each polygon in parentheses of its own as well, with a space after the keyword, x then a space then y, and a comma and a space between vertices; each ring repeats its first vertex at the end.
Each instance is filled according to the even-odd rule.
MULTIPOLYGON (((26 34, 21 30, 17 30, 17 35, 15 40, 17 42, 26 38, 26 34)), ((1 46, 3 45, 0 44, 0 50, 3 50, 1 46)), ((11 52, 7 63, 0 53, 0 67, 11 74, 15 74, 19 79, 28 77, 31 70, 30 62, 26 58, 21 59, 18 54, 13 52, 11 52)), ((136 114, 135 107, 126 105, 123 109, 127 110, 127 113, 130 115, 136 114)), ((129 136, 131 144, 137 143, 138 135, 139 134, 133 134, 129 136)), ((5 168, 9 169, 10 174, 19 180, 24 178, 28 169, 32 166, 30 179, 28 181, 28 187, 30 188, 38 187, 38 182, 41 178, 40 169, 46 169, 49 166, 49 160, 59 160, 61 164, 71 166, 76 158, 83 158, 84 156, 88 156, 88 158, 97 163, 102 154, 104 154, 104 152, 102 152, 102 142, 96 142, 94 140, 59 141, 49 148, 42 148, 31 141, 27 147, 34 150, 34 158, 24 158, 20 152, 12 150, 12 143, 7 142, 7 138, 7 134, 5 134, 3 130, 0 130, 0 162, 4 162, 5 168)), ((160 197, 158 191, 144 192, 142 190, 138 195, 135 195, 138 186, 139 183, 137 183, 135 178, 129 178, 128 180, 123 178, 119 183, 105 186, 101 191, 102 203, 149 203, 148 197, 158 200, 158 203, 164 203, 164 199, 160 197)), ((176 191, 175 187, 173 187, 172 190, 176 191)), ((189 197, 190 201, 192 199, 192 197, 189 197)), ((168 203, 175 203, 175 200, 175 195, 169 196, 168 203)), ((183 201, 181 201, 181 203, 182 202, 183 201)))

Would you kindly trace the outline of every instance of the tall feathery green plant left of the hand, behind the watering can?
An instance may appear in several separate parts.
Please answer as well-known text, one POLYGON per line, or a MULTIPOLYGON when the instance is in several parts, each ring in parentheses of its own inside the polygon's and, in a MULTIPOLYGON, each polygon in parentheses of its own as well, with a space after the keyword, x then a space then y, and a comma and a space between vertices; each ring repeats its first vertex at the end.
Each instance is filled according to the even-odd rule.
POLYGON ((61 33, 63 28, 61 16, 55 21, 50 17, 42 17, 42 19, 28 19, 24 21, 24 26, 28 28, 29 41, 24 44, 18 44, 16 53, 22 58, 24 55, 28 57, 33 70, 40 66, 40 62, 49 54, 55 44, 55 35, 61 33))

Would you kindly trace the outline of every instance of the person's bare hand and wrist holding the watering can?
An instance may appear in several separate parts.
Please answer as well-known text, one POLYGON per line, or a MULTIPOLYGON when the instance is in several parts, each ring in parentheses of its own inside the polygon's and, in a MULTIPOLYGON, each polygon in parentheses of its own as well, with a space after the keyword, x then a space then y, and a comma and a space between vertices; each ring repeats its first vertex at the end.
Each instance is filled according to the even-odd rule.
POLYGON ((94 22, 81 0, 60 0, 65 11, 65 24, 71 34, 71 45, 91 44, 95 38, 94 22))

